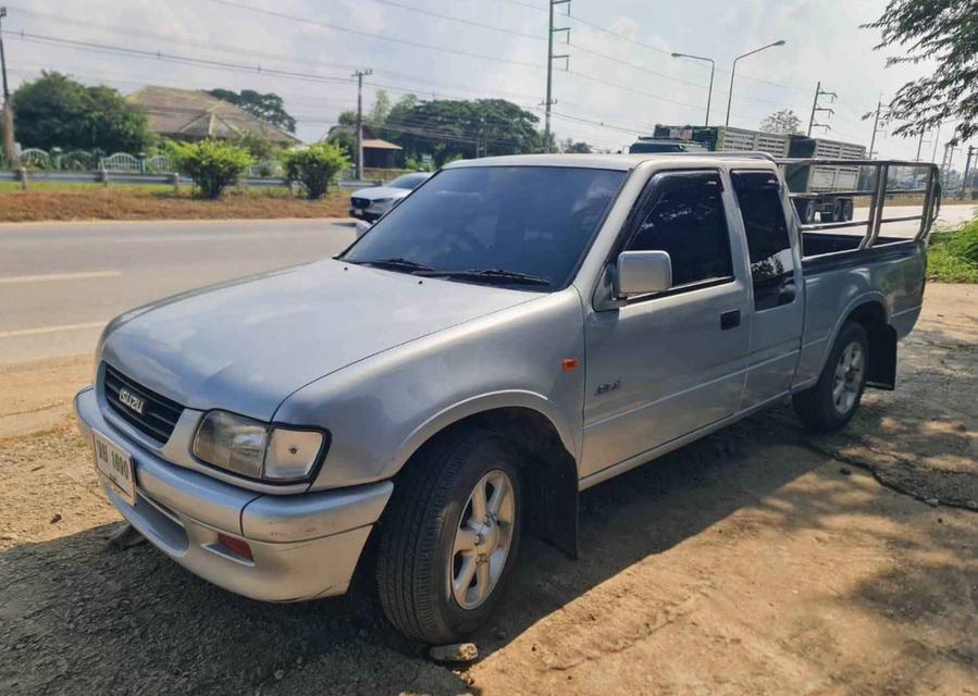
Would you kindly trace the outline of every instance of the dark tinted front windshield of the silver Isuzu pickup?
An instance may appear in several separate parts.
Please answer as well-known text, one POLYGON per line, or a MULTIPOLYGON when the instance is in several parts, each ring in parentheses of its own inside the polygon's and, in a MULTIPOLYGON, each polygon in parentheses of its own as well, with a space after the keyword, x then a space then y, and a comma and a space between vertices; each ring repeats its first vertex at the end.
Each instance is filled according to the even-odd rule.
POLYGON ((562 166, 445 170, 343 260, 465 283, 559 289, 624 176, 562 166))

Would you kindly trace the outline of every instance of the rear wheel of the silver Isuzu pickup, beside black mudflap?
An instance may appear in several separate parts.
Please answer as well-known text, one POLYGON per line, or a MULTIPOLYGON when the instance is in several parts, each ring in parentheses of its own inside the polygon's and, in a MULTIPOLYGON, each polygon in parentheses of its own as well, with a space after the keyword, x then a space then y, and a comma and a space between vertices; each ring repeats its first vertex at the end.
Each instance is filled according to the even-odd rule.
POLYGON ((794 411, 805 427, 830 433, 849 423, 863 399, 868 361, 866 330, 856 322, 845 322, 818 382, 792 398, 794 411))

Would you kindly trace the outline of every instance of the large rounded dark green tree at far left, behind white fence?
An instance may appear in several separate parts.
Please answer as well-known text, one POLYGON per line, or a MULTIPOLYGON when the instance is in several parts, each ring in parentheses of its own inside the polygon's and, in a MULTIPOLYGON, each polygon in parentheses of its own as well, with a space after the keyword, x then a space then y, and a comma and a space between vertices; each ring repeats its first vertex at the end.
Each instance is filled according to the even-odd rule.
POLYGON ((27 147, 139 152, 153 139, 146 112, 116 90, 61 73, 24 83, 13 103, 17 138, 27 147))

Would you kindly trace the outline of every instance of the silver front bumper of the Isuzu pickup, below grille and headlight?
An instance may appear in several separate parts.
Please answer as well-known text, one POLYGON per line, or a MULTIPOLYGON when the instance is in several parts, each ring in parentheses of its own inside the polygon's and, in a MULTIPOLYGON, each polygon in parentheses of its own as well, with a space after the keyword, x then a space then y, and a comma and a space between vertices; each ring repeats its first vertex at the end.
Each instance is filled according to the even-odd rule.
POLYGON ((389 481, 298 495, 261 495, 173 464, 106 418, 96 390, 75 396, 84 435, 96 430, 133 457, 136 505, 103 486, 122 515, 190 572, 252 599, 297 601, 346 592, 389 481), (252 559, 218 542, 244 539, 252 559))

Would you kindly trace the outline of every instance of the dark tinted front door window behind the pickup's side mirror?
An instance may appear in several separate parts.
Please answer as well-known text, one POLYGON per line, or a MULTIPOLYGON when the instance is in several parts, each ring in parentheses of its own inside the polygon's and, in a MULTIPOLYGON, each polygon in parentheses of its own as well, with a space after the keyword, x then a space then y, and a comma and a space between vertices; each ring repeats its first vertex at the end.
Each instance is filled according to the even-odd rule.
POLYGON ((723 214, 723 186, 714 173, 659 174, 640 213, 632 251, 667 251, 672 285, 733 277, 730 237, 723 214))

